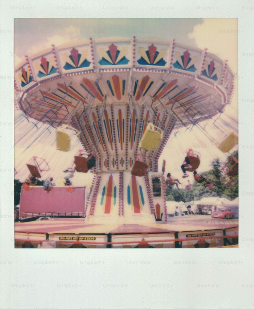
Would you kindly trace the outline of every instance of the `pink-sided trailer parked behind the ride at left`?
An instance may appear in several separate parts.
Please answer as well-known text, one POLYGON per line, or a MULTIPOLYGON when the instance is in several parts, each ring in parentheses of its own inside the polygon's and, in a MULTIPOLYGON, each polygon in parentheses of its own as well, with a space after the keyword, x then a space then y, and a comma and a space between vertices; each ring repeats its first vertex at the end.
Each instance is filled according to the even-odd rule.
POLYGON ((21 188, 18 218, 85 217, 85 189, 77 187, 70 193, 67 186, 54 186, 47 193, 43 186, 21 188))

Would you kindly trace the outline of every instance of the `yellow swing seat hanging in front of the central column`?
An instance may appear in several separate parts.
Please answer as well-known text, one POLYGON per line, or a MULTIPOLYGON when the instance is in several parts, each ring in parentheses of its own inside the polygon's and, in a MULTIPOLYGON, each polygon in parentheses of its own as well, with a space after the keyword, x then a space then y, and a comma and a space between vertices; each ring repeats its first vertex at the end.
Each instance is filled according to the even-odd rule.
POLYGON ((152 123, 148 123, 139 142, 139 147, 145 150, 156 150, 162 140, 162 130, 152 123))

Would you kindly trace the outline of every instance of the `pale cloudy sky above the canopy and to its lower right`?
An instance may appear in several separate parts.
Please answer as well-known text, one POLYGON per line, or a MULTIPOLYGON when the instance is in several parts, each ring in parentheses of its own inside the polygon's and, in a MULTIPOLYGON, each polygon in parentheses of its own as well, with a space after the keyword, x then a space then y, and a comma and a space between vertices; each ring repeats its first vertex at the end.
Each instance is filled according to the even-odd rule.
MULTIPOLYGON (((231 70, 237 74, 238 28, 236 18, 14 19, 14 66, 24 59, 25 55, 31 56, 43 49, 50 48, 51 44, 58 46, 72 40, 90 37, 97 39, 109 36, 132 37, 133 35, 164 40, 175 38, 176 42, 194 45, 201 49, 207 48, 208 52, 216 54, 222 60, 227 59, 231 70)), ((237 88, 237 80, 235 85, 237 88)), ((226 107, 222 120, 217 121, 222 130, 227 129, 223 119, 226 122, 230 122, 228 117, 237 120, 237 97, 238 94, 235 91, 231 105, 226 107)), ((204 127, 208 124, 206 128, 211 127, 208 133, 211 133, 216 139, 219 131, 213 126, 213 122, 214 119, 201 124, 201 126, 204 127)), ((233 125, 237 132, 236 122, 233 125)), ((186 128, 178 130, 178 133, 173 131, 160 157, 159 170, 162 160, 166 159, 166 171, 170 171, 174 177, 180 178, 182 171, 179 166, 185 157, 185 151, 194 148, 195 145, 199 146, 196 148, 202 157, 200 172, 208 170, 211 160, 215 157, 225 161, 227 155, 212 145, 211 140, 205 137, 200 127, 194 128, 191 133, 190 131, 190 129, 186 131, 186 128), (197 145, 197 138, 202 141, 202 144, 197 145)))

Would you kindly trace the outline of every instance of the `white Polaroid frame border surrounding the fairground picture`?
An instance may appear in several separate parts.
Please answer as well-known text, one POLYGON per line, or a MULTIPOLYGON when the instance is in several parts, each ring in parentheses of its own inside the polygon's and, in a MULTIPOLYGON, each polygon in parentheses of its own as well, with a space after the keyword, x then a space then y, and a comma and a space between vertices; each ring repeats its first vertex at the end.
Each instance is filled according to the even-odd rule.
POLYGON ((253 10, 247 0, 1 2, 0 309, 253 308, 253 10), (46 17, 238 18, 238 249, 14 249, 13 22, 46 17))

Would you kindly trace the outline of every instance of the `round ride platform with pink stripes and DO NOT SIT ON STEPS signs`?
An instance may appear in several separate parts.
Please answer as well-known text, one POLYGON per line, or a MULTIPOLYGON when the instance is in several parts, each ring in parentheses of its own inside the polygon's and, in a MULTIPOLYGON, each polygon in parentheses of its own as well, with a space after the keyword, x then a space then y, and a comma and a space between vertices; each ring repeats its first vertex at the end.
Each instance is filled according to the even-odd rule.
POLYGON ((154 224, 96 225, 84 218, 54 218, 15 223, 15 248, 47 242, 56 248, 216 248, 238 244, 238 220, 174 218, 154 224))

